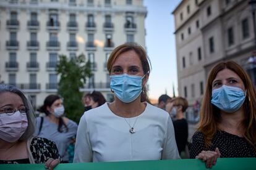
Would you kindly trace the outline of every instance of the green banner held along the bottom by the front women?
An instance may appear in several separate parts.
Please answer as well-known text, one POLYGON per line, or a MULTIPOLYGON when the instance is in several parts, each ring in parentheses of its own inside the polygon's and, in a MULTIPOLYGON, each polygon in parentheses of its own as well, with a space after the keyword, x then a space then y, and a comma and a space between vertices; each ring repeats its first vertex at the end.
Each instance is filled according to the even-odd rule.
MULTIPOLYGON (((0 164, 0 169, 42 169, 44 164, 0 164)), ((123 161, 108 163, 67 163, 58 164, 56 170, 61 169, 122 169, 122 170, 155 170, 155 169, 206 169, 201 160, 160 160, 160 161, 123 161)), ((256 158, 218 158, 211 169, 256 169, 256 158)))

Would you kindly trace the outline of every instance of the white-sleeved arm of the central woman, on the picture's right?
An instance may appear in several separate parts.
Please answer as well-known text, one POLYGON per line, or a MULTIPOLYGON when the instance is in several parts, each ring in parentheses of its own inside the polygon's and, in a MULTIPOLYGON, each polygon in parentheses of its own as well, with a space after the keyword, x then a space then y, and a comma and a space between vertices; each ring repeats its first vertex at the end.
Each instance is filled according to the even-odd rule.
POLYGON ((164 134, 164 145, 163 145, 163 153, 162 160, 176 160, 180 159, 179 152, 177 150, 177 144, 175 140, 174 127, 173 122, 171 121, 171 117, 168 118, 167 123, 167 131, 164 134))

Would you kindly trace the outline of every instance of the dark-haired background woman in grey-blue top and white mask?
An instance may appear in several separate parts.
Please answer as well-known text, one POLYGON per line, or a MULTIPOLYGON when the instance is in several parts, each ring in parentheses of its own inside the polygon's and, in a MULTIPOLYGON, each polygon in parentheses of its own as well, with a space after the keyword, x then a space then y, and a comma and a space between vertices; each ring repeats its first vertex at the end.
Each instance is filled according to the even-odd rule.
POLYGON ((63 163, 69 163, 69 147, 77 134, 77 123, 64 116, 63 101, 59 95, 48 95, 39 109, 45 117, 36 118, 36 132, 39 137, 53 140, 58 147, 63 163))

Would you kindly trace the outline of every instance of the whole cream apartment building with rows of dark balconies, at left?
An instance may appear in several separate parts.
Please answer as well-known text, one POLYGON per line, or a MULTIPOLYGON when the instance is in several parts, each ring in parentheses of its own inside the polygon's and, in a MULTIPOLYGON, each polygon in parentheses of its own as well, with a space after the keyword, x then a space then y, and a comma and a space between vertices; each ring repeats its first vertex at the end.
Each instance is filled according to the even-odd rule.
POLYGON ((106 61, 114 47, 137 42, 145 47, 143 0, 0 1, 0 82, 22 89, 38 107, 57 92, 59 55, 84 54, 93 76, 82 92, 109 89, 106 61))

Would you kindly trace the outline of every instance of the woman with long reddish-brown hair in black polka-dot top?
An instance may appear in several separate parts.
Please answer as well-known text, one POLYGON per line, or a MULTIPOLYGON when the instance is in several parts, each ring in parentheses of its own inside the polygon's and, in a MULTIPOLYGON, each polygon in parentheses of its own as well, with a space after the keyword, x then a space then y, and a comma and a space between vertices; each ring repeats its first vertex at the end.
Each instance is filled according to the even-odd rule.
POLYGON ((220 62, 208 75, 200 122, 190 158, 210 167, 217 158, 256 156, 256 98, 247 73, 236 62, 220 62))

